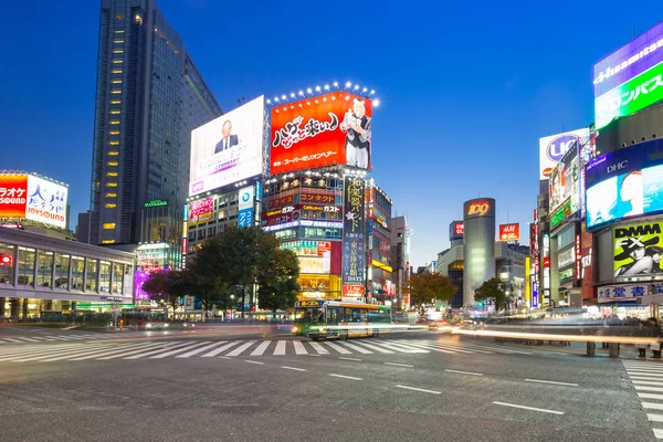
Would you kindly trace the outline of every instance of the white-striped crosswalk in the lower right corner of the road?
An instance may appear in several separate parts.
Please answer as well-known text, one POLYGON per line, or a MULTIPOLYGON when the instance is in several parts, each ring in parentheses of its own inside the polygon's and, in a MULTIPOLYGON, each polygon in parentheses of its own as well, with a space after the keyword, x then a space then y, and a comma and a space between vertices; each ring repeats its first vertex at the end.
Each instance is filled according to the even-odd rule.
POLYGON ((623 360, 622 364, 646 412, 654 438, 663 439, 663 364, 646 360, 623 360))

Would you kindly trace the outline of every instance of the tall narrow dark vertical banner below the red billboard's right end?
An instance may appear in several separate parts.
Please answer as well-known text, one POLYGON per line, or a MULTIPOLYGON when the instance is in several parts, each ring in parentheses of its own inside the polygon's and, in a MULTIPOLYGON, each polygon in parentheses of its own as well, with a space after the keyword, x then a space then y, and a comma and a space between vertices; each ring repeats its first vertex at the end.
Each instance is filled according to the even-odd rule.
POLYGON ((344 179, 343 284, 362 285, 365 262, 365 181, 344 179))

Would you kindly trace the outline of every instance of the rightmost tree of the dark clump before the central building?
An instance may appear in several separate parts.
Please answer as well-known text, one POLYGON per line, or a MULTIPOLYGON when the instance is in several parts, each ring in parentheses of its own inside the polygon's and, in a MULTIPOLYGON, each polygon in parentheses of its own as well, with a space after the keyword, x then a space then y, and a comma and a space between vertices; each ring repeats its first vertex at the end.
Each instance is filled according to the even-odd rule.
POLYGON ((276 250, 270 261, 269 270, 257 276, 257 299, 261 307, 276 313, 297 301, 299 261, 290 250, 276 250))

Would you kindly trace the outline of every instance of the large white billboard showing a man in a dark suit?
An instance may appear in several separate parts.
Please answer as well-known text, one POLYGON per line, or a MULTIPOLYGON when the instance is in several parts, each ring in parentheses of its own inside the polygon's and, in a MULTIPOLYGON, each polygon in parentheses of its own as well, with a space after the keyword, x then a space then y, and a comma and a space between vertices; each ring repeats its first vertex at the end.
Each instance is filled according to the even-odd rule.
POLYGON ((189 196, 262 173, 264 112, 261 96, 191 131, 189 196))

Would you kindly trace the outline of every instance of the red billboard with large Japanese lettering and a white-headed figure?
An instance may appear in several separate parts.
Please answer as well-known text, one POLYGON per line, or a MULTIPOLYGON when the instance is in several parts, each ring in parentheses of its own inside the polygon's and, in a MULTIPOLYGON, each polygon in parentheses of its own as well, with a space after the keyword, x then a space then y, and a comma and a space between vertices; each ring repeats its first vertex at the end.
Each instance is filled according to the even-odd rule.
POLYGON ((272 107, 270 173, 324 166, 371 168, 369 98, 332 92, 272 107))

